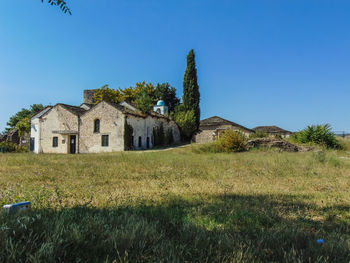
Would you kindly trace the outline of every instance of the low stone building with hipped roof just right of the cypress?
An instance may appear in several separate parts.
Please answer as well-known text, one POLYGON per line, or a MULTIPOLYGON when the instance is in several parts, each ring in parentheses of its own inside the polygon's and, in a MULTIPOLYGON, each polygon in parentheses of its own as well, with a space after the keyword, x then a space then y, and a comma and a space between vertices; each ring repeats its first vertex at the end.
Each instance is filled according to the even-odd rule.
POLYGON ((193 136, 193 141, 197 143, 207 143, 215 141, 220 137, 220 134, 225 130, 240 131, 244 135, 249 136, 254 133, 253 130, 248 129, 242 125, 225 120, 218 116, 213 116, 200 121, 199 131, 193 136))

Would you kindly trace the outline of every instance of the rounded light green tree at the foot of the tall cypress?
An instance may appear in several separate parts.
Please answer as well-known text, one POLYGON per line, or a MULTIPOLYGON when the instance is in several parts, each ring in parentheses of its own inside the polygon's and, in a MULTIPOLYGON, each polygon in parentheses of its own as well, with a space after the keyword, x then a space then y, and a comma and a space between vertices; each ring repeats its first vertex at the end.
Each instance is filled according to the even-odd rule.
POLYGON ((175 122, 180 128, 181 136, 185 140, 190 140, 197 130, 196 116, 193 110, 179 111, 175 113, 175 122))

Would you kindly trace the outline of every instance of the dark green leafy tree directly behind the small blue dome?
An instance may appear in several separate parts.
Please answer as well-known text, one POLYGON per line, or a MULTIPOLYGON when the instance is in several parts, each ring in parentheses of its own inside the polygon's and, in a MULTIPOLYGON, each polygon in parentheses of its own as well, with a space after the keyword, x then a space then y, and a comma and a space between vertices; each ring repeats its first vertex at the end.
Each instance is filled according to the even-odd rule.
POLYGON ((158 100, 164 100, 169 112, 174 111, 175 107, 180 104, 180 99, 176 97, 176 89, 171 87, 168 82, 157 84, 154 91, 154 104, 158 100))

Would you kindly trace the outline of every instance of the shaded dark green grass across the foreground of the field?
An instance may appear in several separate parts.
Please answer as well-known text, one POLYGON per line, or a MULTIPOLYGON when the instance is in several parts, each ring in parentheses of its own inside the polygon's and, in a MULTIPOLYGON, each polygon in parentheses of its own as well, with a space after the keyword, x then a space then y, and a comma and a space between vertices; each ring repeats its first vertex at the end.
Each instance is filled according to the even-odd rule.
POLYGON ((3 214, 0 262, 349 262, 350 208, 295 200, 225 195, 3 214))

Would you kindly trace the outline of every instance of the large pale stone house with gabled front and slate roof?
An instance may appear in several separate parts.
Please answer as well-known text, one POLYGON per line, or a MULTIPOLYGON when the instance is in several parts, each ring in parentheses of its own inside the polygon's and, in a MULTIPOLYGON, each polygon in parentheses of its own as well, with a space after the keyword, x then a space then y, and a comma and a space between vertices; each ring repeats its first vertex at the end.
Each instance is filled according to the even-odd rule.
POLYGON ((166 116, 143 114, 133 105, 101 101, 93 105, 93 93, 84 91, 80 106, 58 103, 31 119, 31 142, 35 153, 98 153, 153 147, 153 128, 163 125, 180 141, 179 128, 166 116), (126 145, 126 124, 132 127, 131 145, 126 145))

